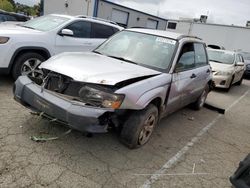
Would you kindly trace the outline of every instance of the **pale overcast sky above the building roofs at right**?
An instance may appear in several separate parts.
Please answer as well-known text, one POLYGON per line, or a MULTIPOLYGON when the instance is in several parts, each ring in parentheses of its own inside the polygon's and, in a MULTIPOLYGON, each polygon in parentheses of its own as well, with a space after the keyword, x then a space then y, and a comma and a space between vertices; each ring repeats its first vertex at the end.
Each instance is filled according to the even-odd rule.
POLYGON ((110 0, 164 18, 199 18, 209 23, 245 26, 250 20, 249 0, 110 0))

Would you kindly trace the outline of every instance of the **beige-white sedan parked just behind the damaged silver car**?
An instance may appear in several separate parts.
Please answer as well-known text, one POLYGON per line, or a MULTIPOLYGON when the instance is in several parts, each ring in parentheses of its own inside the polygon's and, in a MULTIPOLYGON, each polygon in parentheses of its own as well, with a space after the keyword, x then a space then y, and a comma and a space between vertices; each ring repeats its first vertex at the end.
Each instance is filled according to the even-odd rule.
POLYGON ((230 90, 233 84, 241 85, 245 64, 243 57, 234 51, 208 49, 215 87, 230 90))

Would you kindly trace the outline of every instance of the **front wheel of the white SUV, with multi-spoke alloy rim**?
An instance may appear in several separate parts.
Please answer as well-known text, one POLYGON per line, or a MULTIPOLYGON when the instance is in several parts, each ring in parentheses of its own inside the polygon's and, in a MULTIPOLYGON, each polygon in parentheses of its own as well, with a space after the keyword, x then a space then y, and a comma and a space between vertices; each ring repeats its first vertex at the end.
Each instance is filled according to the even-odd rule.
POLYGON ((38 69, 38 66, 45 60, 45 57, 34 52, 24 53, 16 57, 12 68, 12 77, 16 80, 20 75, 42 76, 43 73, 38 69))

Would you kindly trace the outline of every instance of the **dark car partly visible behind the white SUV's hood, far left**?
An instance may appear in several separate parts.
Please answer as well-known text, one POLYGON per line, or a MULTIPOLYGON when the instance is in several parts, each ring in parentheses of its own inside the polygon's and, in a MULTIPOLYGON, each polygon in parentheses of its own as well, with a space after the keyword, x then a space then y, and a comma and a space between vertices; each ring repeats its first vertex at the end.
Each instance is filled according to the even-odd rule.
POLYGON ((6 12, 0 9, 0 23, 2 22, 26 22, 30 20, 29 16, 14 12, 6 12))

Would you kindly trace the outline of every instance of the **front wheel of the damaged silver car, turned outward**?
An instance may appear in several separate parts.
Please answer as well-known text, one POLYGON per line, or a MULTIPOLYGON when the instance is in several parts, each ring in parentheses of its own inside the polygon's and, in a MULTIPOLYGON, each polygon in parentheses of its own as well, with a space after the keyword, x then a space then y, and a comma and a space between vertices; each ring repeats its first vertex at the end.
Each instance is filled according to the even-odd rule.
POLYGON ((158 123, 158 109, 150 104, 145 109, 132 113, 125 121, 120 140, 130 149, 145 145, 158 123))

